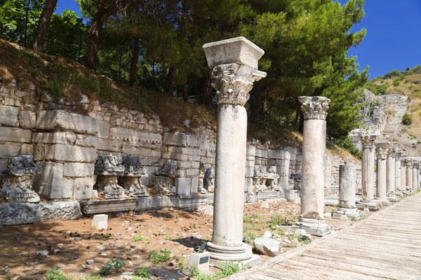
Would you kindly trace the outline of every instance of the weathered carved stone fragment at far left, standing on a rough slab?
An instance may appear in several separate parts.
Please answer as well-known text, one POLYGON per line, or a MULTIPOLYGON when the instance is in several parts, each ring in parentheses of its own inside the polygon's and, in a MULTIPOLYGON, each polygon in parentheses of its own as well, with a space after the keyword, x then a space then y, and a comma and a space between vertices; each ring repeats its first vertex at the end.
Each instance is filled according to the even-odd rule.
POLYGON ((32 177, 41 173, 41 167, 34 164, 34 156, 15 155, 8 160, 7 167, 0 195, 8 202, 39 203, 39 195, 32 190, 32 177))

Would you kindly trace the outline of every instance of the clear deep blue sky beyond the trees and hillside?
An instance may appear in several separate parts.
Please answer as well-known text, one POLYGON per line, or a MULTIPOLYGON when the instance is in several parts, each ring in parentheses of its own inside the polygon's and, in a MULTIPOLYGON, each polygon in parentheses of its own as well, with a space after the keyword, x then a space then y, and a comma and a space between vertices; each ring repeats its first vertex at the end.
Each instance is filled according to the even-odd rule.
MULTIPOLYGON (((340 3, 346 3, 340 0, 340 3)), ((74 0, 59 0, 57 13, 74 10, 74 0)), ((421 0, 366 0, 366 17, 352 30, 365 27, 366 38, 349 55, 356 55, 360 69, 370 66, 370 78, 421 64, 421 0)))

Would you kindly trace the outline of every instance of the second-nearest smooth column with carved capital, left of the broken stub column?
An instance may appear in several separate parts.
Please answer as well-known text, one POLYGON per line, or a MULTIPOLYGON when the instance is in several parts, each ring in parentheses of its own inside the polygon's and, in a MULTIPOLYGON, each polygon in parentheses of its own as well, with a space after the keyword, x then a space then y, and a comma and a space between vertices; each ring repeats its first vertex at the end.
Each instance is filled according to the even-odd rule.
POLYGON ((323 216, 326 158, 326 115, 330 99, 298 97, 304 113, 301 172, 301 213, 298 223, 307 233, 328 235, 323 216))

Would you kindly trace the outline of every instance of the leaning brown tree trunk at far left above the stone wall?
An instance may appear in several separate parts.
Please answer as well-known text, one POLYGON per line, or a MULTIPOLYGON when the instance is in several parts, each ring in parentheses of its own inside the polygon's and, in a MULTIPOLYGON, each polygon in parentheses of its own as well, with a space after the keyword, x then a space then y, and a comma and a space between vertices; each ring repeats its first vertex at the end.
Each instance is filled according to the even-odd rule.
POLYGON ((50 26, 51 17, 53 16, 57 1, 58 0, 46 0, 44 2, 34 39, 34 50, 36 50, 36 52, 43 52, 44 50, 44 43, 46 43, 48 27, 50 26))

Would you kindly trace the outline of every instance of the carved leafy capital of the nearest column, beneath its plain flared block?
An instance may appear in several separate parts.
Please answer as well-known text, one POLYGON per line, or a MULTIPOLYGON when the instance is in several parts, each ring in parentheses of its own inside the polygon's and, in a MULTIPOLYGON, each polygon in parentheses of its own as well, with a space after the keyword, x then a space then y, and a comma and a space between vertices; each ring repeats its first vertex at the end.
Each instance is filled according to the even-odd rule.
POLYGON ((244 106, 250 97, 253 83, 266 76, 251 66, 239 63, 215 66, 212 71, 212 86, 216 90, 217 104, 244 106))

